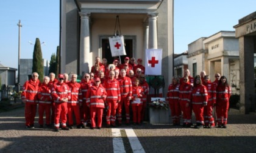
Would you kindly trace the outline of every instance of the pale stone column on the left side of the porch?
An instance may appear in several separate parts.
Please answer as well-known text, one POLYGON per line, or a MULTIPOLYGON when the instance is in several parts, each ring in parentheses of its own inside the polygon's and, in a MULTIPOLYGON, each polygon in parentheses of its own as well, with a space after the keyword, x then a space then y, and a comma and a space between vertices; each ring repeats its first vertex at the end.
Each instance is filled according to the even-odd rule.
POLYGON ((90 55, 90 13, 79 12, 81 17, 80 27, 80 53, 79 53, 79 74, 89 73, 90 55))

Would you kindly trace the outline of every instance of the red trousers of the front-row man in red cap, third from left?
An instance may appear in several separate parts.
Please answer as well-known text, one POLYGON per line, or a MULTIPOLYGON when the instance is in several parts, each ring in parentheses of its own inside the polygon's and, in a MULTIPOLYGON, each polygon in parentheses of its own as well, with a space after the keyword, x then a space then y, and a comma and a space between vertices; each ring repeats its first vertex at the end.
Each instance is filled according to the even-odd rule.
POLYGON ((66 114, 68 113, 67 103, 55 103, 55 118, 54 126, 56 128, 60 127, 60 119, 62 122, 62 127, 66 127, 66 114))

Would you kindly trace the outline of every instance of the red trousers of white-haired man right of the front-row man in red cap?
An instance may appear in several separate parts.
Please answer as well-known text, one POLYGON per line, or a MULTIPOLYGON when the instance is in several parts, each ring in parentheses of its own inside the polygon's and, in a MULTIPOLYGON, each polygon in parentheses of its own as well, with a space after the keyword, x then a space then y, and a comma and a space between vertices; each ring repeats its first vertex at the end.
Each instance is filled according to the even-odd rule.
POLYGON ((70 103, 68 103, 68 124, 69 124, 69 126, 73 126, 73 124, 74 124, 73 112, 74 112, 74 115, 76 117, 76 125, 78 126, 78 125, 81 124, 80 106, 79 106, 79 104, 71 105, 70 103))

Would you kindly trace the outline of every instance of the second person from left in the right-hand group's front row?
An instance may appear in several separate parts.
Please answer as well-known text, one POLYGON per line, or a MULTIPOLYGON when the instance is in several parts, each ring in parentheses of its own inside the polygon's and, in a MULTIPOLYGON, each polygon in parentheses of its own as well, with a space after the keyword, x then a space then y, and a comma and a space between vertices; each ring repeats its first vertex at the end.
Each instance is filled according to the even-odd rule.
POLYGON ((190 94, 193 86, 190 84, 188 76, 183 78, 183 83, 180 83, 179 88, 179 103, 180 109, 183 112, 183 127, 191 127, 191 101, 190 94))

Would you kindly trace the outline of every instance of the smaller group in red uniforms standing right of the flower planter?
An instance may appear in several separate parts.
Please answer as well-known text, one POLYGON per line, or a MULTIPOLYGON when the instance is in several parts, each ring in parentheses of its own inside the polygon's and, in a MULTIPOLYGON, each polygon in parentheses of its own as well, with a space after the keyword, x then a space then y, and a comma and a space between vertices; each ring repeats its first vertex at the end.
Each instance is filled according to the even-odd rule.
POLYGON ((172 83, 168 87, 166 99, 169 101, 173 125, 180 125, 180 117, 183 115, 183 126, 191 127, 191 116, 194 112, 194 127, 197 129, 215 126, 227 128, 231 94, 227 78, 216 73, 215 81, 212 83, 205 71, 194 78, 190 76, 188 69, 185 69, 184 74, 183 78, 172 77, 172 83), (213 108, 216 110, 216 124, 213 108))

